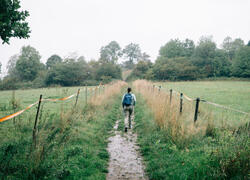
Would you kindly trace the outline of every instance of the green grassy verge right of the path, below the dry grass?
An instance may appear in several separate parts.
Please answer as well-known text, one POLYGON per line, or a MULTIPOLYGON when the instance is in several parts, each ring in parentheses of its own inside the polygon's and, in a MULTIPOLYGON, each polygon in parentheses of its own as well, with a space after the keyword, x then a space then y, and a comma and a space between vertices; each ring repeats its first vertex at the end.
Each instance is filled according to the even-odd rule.
POLYGON ((234 133, 213 129, 180 144, 155 123, 142 96, 137 94, 137 99, 135 131, 150 179, 249 178, 249 127, 234 133))

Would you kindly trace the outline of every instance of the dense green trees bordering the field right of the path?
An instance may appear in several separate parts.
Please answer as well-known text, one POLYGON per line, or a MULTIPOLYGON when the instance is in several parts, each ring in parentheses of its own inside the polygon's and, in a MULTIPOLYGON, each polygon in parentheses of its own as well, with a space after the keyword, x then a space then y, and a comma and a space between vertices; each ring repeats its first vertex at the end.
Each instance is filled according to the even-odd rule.
POLYGON ((139 61, 129 79, 196 80, 216 77, 250 78, 250 41, 226 37, 218 48, 211 36, 172 39, 159 50, 155 63, 139 61))

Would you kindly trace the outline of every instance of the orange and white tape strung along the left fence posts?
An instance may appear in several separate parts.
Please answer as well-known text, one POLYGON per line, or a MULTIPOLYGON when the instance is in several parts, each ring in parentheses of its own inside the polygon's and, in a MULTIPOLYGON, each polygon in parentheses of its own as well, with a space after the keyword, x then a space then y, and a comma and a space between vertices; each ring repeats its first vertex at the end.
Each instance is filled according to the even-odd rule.
MULTIPOLYGON (((104 88, 104 85, 102 86, 103 88, 104 88)), ((92 90, 94 91, 94 95, 96 95, 96 90, 97 90, 97 88, 101 88, 101 87, 94 87, 94 88, 92 88, 92 90)), ((91 88, 90 88, 90 90, 91 90, 91 88)), ((99 93, 100 93, 100 91, 99 91, 99 93)), ((67 96, 67 97, 63 97, 63 98, 59 98, 59 99, 41 99, 41 101, 43 102, 43 101, 50 101, 50 102, 56 102, 56 101, 66 101, 66 100, 68 100, 68 99, 71 99, 71 98, 73 98, 74 96, 76 96, 77 94, 79 94, 79 92, 77 92, 77 93, 75 93, 75 94, 72 94, 72 95, 70 95, 70 96, 67 96)), ((87 95, 87 94, 86 94, 87 95)), ((0 123, 1 122, 4 122, 4 121, 7 121, 7 120, 9 120, 9 119, 12 119, 12 118, 14 118, 14 117, 16 117, 16 116, 19 116, 19 115, 21 115, 23 112, 25 112, 26 110, 28 110, 28 109, 30 109, 31 107, 33 107, 34 105, 36 105, 36 104, 38 104, 38 102, 39 101, 37 101, 37 102, 35 102, 35 103, 33 103, 33 104, 30 104, 28 107, 26 107, 25 109, 22 109, 22 110, 20 110, 20 111, 18 111, 18 112, 16 112, 16 113, 13 113, 13 114, 10 114, 10 115, 7 115, 7 116, 5 116, 5 117, 2 117, 2 118, 0 118, 0 123)))

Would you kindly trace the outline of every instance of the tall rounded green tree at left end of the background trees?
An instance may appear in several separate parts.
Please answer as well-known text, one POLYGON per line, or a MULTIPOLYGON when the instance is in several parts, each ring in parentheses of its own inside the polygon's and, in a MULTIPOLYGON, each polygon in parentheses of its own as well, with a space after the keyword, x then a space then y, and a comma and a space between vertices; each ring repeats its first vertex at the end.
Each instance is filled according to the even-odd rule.
POLYGON ((33 81, 37 77, 38 72, 44 68, 40 59, 41 56, 35 48, 22 47, 21 55, 16 62, 16 70, 21 80, 33 81))

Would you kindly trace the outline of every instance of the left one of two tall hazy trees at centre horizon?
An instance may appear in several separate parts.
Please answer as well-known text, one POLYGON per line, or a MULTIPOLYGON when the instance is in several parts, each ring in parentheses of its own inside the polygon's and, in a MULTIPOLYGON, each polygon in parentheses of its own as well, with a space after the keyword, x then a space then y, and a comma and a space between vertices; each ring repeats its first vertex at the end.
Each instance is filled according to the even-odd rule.
POLYGON ((111 41, 100 50, 100 60, 106 63, 116 64, 119 57, 122 56, 120 45, 116 41, 111 41))

